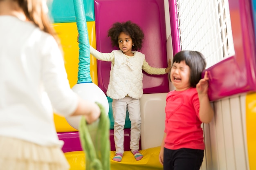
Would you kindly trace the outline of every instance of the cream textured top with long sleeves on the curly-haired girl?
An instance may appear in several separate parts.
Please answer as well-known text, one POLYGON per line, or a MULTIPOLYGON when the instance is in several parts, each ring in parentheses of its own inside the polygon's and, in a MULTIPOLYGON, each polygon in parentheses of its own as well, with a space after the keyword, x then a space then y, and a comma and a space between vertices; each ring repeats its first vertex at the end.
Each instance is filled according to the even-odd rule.
POLYGON ((107 95, 112 99, 123 99, 126 95, 139 99, 143 95, 142 70, 148 74, 166 74, 165 68, 149 66, 145 55, 132 51, 134 56, 125 55, 121 50, 100 53, 90 46, 90 53, 98 60, 111 61, 110 80, 107 95))

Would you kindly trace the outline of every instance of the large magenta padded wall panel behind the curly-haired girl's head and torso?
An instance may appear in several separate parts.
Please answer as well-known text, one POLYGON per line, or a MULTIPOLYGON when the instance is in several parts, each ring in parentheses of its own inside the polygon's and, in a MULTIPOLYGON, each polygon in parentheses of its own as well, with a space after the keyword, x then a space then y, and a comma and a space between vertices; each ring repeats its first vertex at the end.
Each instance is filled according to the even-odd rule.
MULTIPOLYGON (((167 67, 166 28, 163 0, 95 0, 95 28, 97 50, 109 53, 111 46, 108 29, 114 22, 131 20, 144 31, 145 39, 141 52, 150 66, 167 67), (130 12, 128 12, 130 11, 130 12)), ((106 93, 109 83, 110 62, 97 61, 98 86, 106 93)), ((148 75, 143 77, 144 93, 169 91, 168 76, 148 75)))

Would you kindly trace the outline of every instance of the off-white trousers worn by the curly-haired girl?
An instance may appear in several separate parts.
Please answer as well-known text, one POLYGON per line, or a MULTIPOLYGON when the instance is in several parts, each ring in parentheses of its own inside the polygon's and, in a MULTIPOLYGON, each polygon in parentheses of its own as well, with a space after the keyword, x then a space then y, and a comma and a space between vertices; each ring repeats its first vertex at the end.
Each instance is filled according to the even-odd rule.
POLYGON ((140 138, 140 103, 139 99, 124 97, 124 99, 113 99, 112 110, 115 119, 114 139, 116 153, 124 153, 124 124, 126 118, 126 109, 129 112, 131 121, 130 149, 139 150, 140 138))

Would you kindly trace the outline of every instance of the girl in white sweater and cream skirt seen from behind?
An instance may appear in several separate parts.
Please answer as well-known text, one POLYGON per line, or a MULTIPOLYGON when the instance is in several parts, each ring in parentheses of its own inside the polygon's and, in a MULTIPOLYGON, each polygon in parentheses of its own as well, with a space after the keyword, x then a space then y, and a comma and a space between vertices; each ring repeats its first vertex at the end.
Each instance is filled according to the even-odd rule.
POLYGON ((46 0, 0 0, 0 170, 69 170, 54 126, 100 115, 71 89, 46 0))

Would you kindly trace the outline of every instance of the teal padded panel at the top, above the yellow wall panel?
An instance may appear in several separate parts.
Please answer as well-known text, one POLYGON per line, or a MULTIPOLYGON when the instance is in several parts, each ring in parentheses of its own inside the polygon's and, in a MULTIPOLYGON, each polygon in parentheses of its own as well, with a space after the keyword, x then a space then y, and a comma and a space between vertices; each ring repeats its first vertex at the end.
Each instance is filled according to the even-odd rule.
MULTIPOLYGON (((95 21, 94 0, 84 0, 83 5, 86 21, 95 21)), ((53 0, 48 7, 53 23, 76 22, 73 0, 53 0)))

